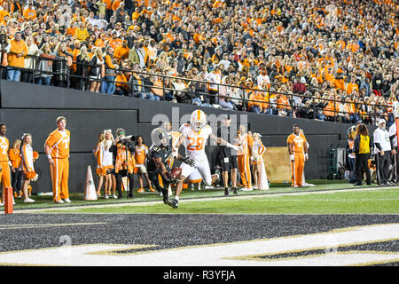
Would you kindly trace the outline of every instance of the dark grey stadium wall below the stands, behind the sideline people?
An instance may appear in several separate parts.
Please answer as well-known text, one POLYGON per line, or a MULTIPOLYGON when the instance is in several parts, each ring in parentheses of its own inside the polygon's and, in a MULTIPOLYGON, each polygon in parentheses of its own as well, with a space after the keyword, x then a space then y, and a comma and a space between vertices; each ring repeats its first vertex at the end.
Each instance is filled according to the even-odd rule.
MULTIPOLYGON (((126 98, 88 91, 69 90, 31 83, 0 81, 0 121, 7 124, 6 137, 10 144, 29 132, 33 136, 33 147, 41 154, 35 162, 40 178, 35 191, 51 191, 50 168, 43 154, 43 144, 48 134, 55 130, 56 118, 66 116, 66 128, 71 131, 70 192, 84 190, 87 166, 95 173, 96 162, 92 154, 101 130, 124 128, 128 135, 142 135, 147 146, 155 127, 167 119, 178 129, 180 122, 186 122, 189 114, 198 107, 163 101, 126 98), (185 114, 185 115, 184 115, 185 114), (176 122, 176 123, 175 123, 176 122), (158 124, 157 124, 158 125, 158 124)), ((325 178, 327 175, 326 155, 328 147, 344 146, 350 124, 293 119, 274 115, 253 114, 222 109, 200 107, 208 117, 220 114, 236 114, 239 122, 247 122, 249 130, 262 134, 265 146, 286 146, 286 138, 297 123, 309 140, 309 162, 306 165, 307 178, 325 178)), ((213 125, 213 127, 217 127, 213 125)), ((215 164, 216 146, 207 147, 212 165, 215 164)))

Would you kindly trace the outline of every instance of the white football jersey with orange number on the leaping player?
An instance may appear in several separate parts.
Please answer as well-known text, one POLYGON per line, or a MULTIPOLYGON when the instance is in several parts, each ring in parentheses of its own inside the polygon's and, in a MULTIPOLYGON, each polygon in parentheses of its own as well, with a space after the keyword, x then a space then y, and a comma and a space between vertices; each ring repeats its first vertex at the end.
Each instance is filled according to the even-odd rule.
POLYGON ((207 138, 212 134, 209 125, 204 126, 200 131, 195 131, 190 124, 184 124, 180 127, 180 133, 184 135, 185 154, 188 157, 195 159, 206 155, 207 138))

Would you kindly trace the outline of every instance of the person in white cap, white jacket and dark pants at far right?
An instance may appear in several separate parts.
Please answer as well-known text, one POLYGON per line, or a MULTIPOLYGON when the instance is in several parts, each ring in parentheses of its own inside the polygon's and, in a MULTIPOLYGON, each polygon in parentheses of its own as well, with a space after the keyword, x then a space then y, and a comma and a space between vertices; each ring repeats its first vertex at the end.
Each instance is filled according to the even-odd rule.
POLYGON ((372 137, 374 139, 374 154, 377 165, 377 183, 379 185, 390 185, 391 183, 388 179, 389 165, 391 164, 391 142, 389 133, 386 130, 385 119, 379 119, 379 128, 374 130, 372 137))

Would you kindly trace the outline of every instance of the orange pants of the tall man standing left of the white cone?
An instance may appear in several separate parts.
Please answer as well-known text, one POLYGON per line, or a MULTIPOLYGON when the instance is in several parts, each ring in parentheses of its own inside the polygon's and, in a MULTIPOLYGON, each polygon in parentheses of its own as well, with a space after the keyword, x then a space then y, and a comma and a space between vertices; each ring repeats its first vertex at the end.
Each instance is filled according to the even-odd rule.
POLYGON ((68 176, 69 160, 53 159, 55 166, 50 166, 52 181, 52 197, 54 201, 69 198, 68 176))

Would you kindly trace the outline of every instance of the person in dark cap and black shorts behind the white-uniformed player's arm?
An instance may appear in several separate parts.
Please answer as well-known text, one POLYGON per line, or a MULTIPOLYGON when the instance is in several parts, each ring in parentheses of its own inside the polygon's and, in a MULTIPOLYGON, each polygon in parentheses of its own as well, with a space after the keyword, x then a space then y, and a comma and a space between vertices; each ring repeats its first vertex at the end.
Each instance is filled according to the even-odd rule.
MULTIPOLYGON (((223 114, 222 126, 217 129, 217 137, 222 138, 231 144, 234 144, 232 133, 237 132, 231 130, 231 117, 229 114, 223 114)), ((237 153, 227 146, 219 146, 220 158, 222 164, 222 177, 224 185, 224 195, 229 195, 229 170, 231 170, 231 191, 237 194, 237 172, 239 164, 237 161, 237 153)))

